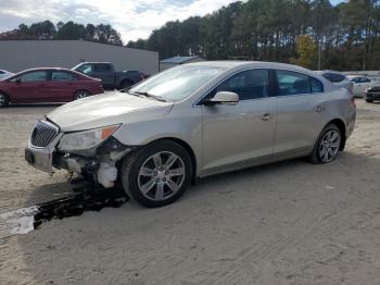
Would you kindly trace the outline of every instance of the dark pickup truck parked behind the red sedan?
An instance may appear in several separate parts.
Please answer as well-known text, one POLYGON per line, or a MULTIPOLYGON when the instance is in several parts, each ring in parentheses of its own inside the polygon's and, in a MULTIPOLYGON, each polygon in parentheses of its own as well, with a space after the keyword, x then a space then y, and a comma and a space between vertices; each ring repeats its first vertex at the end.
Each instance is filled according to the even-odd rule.
POLYGON ((73 67, 88 76, 102 79, 103 87, 107 89, 125 89, 144 79, 139 71, 116 72, 110 62, 83 62, 73 67))

